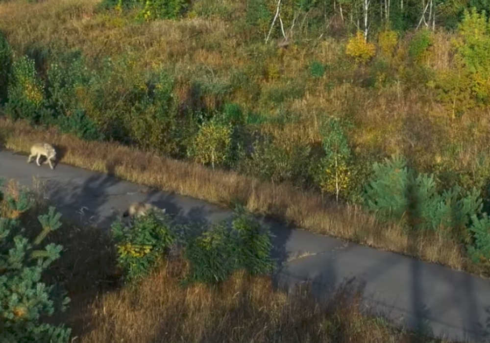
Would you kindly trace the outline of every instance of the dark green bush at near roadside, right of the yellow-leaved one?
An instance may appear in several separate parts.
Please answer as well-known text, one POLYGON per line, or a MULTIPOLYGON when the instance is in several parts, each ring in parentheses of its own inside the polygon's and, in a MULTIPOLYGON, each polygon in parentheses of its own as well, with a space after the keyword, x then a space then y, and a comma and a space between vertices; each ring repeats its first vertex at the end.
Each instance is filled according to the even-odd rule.
POLYGON ((200 236, 188 239, 184 256, 190 263, 187 282, 219 283, 235 270, 252 275, 273 270, 269 228, 238 208, 233 221, 213 223, 200 236))

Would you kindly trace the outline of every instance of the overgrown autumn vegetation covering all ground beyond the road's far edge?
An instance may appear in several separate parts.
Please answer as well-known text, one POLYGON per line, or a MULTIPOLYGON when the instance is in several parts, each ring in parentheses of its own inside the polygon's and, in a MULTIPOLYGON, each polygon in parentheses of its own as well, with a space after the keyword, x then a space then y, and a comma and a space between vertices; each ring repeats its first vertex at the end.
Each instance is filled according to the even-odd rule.
POLYGON ((2 3, 6 146, 485 271, 487 8, 334 3, 2 3))

